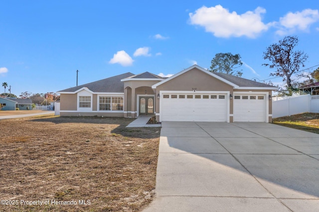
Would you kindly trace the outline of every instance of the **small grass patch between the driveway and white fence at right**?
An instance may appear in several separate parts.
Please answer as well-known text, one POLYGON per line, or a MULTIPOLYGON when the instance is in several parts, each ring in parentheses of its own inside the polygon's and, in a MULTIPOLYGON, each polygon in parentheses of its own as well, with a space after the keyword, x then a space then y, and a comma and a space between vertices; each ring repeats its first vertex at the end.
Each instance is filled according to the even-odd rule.
POLYGON ((273 124, 319 134, 319 113, 302 113, 273 119, 273 124))

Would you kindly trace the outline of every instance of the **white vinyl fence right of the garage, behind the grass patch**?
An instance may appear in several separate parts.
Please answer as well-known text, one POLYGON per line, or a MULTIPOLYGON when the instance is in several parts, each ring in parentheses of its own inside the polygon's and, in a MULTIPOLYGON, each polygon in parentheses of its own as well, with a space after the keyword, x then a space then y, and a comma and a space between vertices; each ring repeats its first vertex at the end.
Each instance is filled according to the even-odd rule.
POLYGON ((278 99, 273 97, 273 118, 291 116, 299 113, 319 113, 319 95, 290 96, 278 99))

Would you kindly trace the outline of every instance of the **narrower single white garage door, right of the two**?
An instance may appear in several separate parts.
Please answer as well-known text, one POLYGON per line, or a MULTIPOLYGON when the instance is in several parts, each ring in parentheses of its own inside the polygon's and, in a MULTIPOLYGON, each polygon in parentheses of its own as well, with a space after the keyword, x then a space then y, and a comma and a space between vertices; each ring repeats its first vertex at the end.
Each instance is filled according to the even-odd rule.
POLYGON ((266 95, 234 94, 234 122, 266 122, 266 95))

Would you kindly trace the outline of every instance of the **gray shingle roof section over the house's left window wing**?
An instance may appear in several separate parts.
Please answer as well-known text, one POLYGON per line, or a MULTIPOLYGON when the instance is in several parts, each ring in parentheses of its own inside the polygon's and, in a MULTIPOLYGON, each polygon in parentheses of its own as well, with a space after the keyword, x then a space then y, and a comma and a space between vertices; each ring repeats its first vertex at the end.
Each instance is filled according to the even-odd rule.
POLYGON ((79 85, 76 87, 67 88, 60 90, 58 92, 74 92, 83 87, 87 87, 93 92, 115 92, 115 93, 124 93, 124 82, 121 82, 121 79, 134 76, 133 73, 127 72, 120 75, 112 76, 106 79, 101 79, 95 82, 90 82, 87 84, 79 85))

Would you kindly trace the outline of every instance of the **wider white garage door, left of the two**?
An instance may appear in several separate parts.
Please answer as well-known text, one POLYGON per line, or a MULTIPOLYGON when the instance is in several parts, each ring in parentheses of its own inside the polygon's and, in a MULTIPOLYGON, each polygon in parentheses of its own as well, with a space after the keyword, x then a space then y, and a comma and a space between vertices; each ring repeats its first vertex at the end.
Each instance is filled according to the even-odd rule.
POLYGON ((227 121, 226 93, 163 93, 160 104, 161 121, 227 121))

